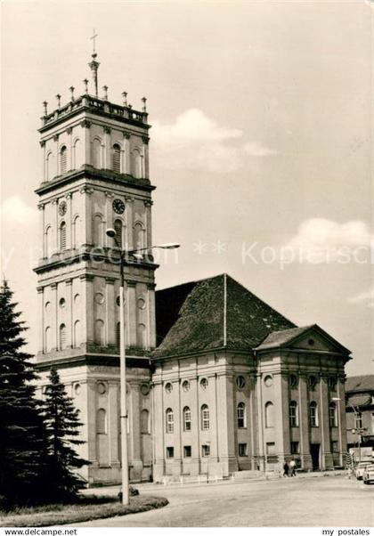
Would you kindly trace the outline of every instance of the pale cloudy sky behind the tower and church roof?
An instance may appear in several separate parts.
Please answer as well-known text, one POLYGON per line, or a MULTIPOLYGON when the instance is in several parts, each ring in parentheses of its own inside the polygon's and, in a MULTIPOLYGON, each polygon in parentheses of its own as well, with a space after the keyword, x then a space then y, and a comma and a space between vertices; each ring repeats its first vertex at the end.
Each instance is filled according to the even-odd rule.
POLYGON ((158 287, 228 272, 373 372, 370 1, 3 2, 2 272, 37 348, 41 103, 148 97, 158 287))

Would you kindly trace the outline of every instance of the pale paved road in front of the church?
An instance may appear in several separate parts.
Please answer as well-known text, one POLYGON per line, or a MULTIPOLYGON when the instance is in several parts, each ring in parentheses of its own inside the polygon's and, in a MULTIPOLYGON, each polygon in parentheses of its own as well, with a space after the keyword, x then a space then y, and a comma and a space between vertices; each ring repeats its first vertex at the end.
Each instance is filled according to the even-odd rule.
POLYGON ((175 488, 145 485, 141 492, 167 497, 169 505, 81 526, 374 526, 374 485, 343 476, 175 488))

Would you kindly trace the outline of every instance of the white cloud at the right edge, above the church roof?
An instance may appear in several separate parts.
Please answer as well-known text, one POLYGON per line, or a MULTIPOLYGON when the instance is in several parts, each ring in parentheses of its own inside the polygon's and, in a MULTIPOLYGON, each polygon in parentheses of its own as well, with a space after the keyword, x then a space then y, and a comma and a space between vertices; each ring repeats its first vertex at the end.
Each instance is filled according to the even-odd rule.
POLYGON ((315 264, 330 261, 365 264, 370 262, 373 246, 374 236, 362 221, 337 223, 312 218, 300 224, 297 234, 282 250, 293 258, 315 264))

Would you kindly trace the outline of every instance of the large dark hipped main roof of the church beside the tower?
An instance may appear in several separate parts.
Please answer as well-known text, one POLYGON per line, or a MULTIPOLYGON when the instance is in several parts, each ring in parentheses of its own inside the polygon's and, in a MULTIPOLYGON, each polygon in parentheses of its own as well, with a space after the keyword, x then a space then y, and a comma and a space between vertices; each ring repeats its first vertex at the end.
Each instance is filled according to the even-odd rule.
POLYGON ((156 293, 158 348, 153 358, 217 348, 251 350, 295 324, 226 274, 156 293))

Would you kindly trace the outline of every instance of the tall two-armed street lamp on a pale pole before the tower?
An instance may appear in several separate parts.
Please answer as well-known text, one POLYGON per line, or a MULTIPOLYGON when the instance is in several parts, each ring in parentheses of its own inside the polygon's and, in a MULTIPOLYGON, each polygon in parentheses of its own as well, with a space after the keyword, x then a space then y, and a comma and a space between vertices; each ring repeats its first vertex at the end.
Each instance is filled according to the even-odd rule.
POLYGON ((124 266, 126 255, 138 254, 141 251, 150 249, 176 249, 180 244, 170 242, 159 244, 159 246, 150 246, 150 248, 122 249, 118 243, 117 233, 114 229, 106 230, 107 236, 114 239, 116 246, 120 249, 120 285, 119 285, 119 386, 120 386, 120 418, 121 418, 121 473, 122 473, 122 504, 127 505, 129 502, 128 492, 128 457, 127 457, 127 408, 126 408, 126 344, 125 344, 125 313, 124 313, 124 287, 125 273, 124 266))

